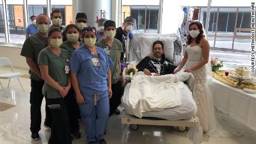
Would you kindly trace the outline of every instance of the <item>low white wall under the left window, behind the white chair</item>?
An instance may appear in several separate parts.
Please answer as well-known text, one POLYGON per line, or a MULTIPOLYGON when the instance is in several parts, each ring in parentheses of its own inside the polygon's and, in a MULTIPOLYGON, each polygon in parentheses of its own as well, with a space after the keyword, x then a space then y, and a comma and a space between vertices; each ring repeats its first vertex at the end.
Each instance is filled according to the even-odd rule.
POLYGON ((21 56, 21 47, 0 46, 0 57, 8 57, 16 68, 29 68, 26 59, 21 56))

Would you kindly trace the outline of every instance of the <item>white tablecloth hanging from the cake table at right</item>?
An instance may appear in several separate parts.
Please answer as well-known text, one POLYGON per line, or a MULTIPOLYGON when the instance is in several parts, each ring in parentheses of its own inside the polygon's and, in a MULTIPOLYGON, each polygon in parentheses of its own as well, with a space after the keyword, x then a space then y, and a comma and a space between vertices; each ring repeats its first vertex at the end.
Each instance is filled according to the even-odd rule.
POLYGON ((256 94, 245 93, 214 78, 212 81, 214 106, 256 131, 256 94))

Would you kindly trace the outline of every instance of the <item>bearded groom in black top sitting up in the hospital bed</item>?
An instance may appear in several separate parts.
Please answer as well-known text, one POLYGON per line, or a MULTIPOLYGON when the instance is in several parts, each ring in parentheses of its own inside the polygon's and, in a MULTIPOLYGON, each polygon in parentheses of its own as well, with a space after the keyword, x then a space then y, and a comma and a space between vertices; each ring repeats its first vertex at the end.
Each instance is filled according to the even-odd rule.
POLYGON ((142 71, 147 76, 161 76, 168 75, 174 72, 177 67, 165 58, 164 44, 161 41, 155 41, 153 43, 153 56, 145 57, 137 64, 138 71, 142 71))

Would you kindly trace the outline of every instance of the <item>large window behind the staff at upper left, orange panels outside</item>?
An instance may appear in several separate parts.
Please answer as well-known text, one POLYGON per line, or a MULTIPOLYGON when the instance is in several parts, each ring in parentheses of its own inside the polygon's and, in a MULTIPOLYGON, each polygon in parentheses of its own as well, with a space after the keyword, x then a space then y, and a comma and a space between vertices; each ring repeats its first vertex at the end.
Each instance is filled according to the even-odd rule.
MULTIPOLYGON (((32 24, 29 18, 41 13, 48 14, 47 11, 48 8, 50 8, 46 0, 6 0, 3 2, 6 2, 5 5, 0 1, 0 42, 23 44, 26 39, 26 27, 32 24), (27 4, 27 6, 25 6, 23 2, 27 4), (4 16, 4 12, 6 12, 6 16, 4 16), (24 14, 27 14, 27 16, 24 14), (7 26, 8 33, 6 34, 7 26), (8 37, 6 38, 6 36, 8 37)), ((73 23, 72 0, 62 0, 61 5, 58 0, 50 0, 50 3, 52 4, 51 11, 60 9, 63 17, 63 26, 73 23)))

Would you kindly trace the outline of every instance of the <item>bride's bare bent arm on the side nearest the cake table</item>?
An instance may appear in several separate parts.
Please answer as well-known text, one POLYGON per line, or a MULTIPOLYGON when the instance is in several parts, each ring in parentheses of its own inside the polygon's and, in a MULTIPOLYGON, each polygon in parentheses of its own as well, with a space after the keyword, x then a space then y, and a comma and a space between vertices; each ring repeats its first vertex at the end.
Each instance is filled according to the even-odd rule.
POLYGON ((193 72, 196 69, 203 67, 209 61, 210 44, 206 39, 202 39, 202 40, 203 40, 203 44, 201 47, 202 47, 202 51, 203 51, 203 61, 196 64, 194 67, 191 67, 190 69, 188 69, 188 70, 190 70, 190 72, 193 72))

